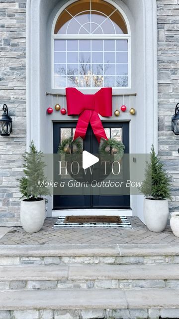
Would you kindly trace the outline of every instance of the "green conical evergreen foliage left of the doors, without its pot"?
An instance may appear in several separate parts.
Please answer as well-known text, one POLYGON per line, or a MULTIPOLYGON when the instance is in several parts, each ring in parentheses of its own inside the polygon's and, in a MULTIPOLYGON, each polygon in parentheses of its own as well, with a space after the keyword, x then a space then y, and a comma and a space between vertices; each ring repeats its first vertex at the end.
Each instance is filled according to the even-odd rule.
MULTIPOLYGON (((43 161, 43 153, 37 152, 36 147, 31 141, 29 145, 30 152, 25 152, 23 155, 23 172, 25 176, 22 176, 19 181, 19 190, 22 194, 21 198, 25 198, 27 201, 36 201, 41 198, 41 196, 50 195, 50 192, 45 186, 38 186, 44 181, 46 182, 46 177, 44 175, 44 167, 46 166, 43 161)), ((20 199, 21 199, 20 198, 20 199)))

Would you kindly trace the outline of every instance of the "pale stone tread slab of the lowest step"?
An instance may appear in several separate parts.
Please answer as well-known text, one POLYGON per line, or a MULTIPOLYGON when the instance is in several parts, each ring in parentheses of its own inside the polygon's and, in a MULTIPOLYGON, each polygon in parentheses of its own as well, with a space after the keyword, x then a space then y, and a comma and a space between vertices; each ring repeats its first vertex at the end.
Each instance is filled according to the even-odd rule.
POLYGON ((0 310, 179 308, 179 290, 63 290, 0 292, 0 310))

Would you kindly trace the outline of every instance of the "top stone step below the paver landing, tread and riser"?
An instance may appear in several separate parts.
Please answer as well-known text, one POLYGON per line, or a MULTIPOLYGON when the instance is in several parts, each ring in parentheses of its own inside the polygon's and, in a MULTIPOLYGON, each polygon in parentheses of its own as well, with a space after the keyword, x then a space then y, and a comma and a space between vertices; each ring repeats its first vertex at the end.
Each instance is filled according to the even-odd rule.
POLYGON ((179 245, 0 245, 0 265, 179 264, 179 245))

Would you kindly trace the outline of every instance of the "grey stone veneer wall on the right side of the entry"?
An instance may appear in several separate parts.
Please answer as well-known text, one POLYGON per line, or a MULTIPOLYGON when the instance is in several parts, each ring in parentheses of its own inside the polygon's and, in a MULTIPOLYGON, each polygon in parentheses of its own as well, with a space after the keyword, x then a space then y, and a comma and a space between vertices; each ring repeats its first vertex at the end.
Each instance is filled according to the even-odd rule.
POLYGON ((171 118, 179 102, 179 0, 157 0, 159 155, 171 175, 170 211, 179 210, 179 137, 171 118))

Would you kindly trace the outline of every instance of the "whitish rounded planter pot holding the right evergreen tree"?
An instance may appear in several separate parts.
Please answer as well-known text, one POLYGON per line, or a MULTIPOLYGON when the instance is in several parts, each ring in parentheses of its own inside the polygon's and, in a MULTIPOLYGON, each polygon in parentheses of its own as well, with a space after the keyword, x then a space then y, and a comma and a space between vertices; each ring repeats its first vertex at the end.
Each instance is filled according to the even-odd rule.
POLYGON ((168 199, 153 200, 144 198, 144 220, 149 230, 161 232, 167 226, 169 217, 168 199))

